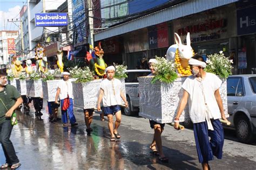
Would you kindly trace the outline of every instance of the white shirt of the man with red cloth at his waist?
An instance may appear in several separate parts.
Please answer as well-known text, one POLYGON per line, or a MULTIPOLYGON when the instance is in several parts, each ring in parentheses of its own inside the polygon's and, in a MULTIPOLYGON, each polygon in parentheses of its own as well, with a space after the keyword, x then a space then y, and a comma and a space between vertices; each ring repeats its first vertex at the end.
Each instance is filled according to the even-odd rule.
POLYGON ((60 100, 67 98, 68 95, 69 95, 69 98, 73 98, 73 87, 70 79, 67 81, 64 81, 63 79, 59 81, 58 88, 60 88, 60 93, 59 93, 60 100))

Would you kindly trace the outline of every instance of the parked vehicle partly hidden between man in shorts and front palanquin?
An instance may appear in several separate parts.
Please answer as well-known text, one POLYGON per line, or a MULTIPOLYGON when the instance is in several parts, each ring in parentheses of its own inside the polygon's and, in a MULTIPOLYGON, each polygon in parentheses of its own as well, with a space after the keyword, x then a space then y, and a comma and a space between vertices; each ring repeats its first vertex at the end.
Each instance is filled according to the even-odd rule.
POLYGON ((125 79, 126 99, 129 104, 128 108, 124 108, 124 114, 133 116, 139 111, 139 82, 140 76, 147 76, 151 73, 147 69, 130 69, 126 71, 128 77, 125 79))

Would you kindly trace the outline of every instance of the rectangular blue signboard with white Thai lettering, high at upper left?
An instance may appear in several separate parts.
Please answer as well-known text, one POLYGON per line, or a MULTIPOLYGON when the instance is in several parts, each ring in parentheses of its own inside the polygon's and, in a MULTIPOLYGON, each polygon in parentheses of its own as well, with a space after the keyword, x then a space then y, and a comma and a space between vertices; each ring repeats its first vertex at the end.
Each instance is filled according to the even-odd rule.
POLYGON ((36 26, 66 26, 68 25, 68 15, 65 12, 58 13, 36 13, 36 26))

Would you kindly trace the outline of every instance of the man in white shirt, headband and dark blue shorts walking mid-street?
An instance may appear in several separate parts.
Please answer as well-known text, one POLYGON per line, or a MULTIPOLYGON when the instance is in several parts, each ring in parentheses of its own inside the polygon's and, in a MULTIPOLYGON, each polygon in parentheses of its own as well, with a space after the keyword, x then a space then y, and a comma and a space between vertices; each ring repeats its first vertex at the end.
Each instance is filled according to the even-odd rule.
POLYGON ((109 130, 111 134, 110 141, 120 139, 121 136, 117 129, 121 123, 121 108, 122 99, 125 101, 125 107, 128 107, 128 103, 121 89, 122 83, 118 79, 114 79, 114 72, 116 69, 114 66, 109 66, 105 69, 107 79, 100 83, 99 97, 97 103, 97 110, 100 111, 100 103, 103 100, 104 115, 107 116, 109 122, 109 130), (113 128, 113 115, 116 115, 116 122, 113 128))

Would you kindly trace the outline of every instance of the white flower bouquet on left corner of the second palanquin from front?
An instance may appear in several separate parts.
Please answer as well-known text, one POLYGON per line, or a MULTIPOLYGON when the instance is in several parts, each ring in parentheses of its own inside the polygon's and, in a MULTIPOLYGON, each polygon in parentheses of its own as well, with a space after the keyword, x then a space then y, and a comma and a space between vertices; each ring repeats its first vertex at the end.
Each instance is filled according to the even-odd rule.
POLYGON ((76 66, 73 68, 69 68, 69 72, 71 76, 76 79, 76 82, 85 83, 94 79, 89 67, 84 67, 82 69, 76 66))

